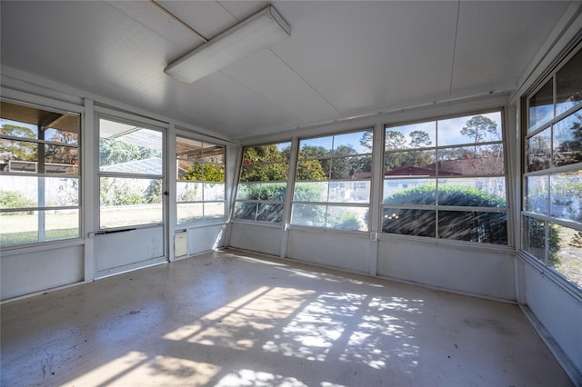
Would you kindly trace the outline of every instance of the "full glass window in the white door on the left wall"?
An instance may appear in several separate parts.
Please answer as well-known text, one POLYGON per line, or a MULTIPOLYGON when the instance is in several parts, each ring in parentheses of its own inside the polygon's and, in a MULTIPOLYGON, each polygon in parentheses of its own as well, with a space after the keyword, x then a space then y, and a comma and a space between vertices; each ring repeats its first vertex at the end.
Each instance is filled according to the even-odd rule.
POLYGON ((99 228, 162 223, 163 132, 99 119, 99 228))

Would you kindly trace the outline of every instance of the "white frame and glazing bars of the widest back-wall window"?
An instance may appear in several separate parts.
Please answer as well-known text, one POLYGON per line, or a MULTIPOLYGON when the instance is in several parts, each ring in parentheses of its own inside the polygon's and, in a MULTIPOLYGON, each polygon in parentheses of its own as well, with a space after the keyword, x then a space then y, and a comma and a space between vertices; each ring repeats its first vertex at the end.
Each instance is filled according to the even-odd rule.
MULTIPOLYGON (((399 238, 411 238, 416 240, 421 238, 426 241, 438 241, 438 243, 453 243, 453 244, 468 244, 471 246, 479 246, 479 248, 507 248, 507 246, 513 245, 514 241, 512 238, 511 233, 511 220, 510 214, 510 188, 509 182, 507 178, 507 164, 508 164, 508 157, 507 157, 507 124, 506 124, 506 112, 503 107, 495 107, 495 108, 488 108, 488 109, 481 109, 481 110, 470 110, 465 112, 459 112, 457 114, 447 114, 436 116, 432 118, 426 118, 421 120, 414 120, 414 121, 406 121, 406 122, 399 122, 399 123, 389 123, 383 125, 383 134, 384 138, 382 141, 382 186, 381 186, 381 195, 380 195, 380 214, 379 214, 379 225, 378 225, 378 233, 380 235, 391 235, 396 236, 399 238), (438 137, 438 122, 440 121, 447 121, 456 118, 468 118, 481 115, 481 114, 499 114, 499 123, 501 124, 501 136, 500 140, 498 141, 484 141, 484 142, 467 142, 458 144, 439 144, 438 137), (423 147, 412 147, 407 146, 406 148, 401 149, 392 149, 386 150, 386 133, 390 128, 397 128, 412 124, 427 124, 427 123, 434 123, 435 127, 435 143, 429 144, 423 147), (388 154, 406 154, 411 151, 416 152, 417 150, 422 151, 434 151, 434 162, 433 164, 440 164, 440 155, 438 150, 447 150, 447 149, 459 149, 462 150, 468 147, 477 147, 477 146, 489 146, 489 145, 501 145, 501 151, 503 153, 503 172, 493 173, 493 174, 459 174, 459 175, 447 175, 447 174, 437 174, 438 166, 436 166, 436 171, 434 175, 402 175, 396 176, 393 178, 393 181, 397 180, 421 180, 426 179, 427 183, 434 182, 434 195, 435 195, 435 203, 385 203, 386 200, 386 182, 390 181, 391 178, 386 178, 386 155, 388 154), (441 180, 450 180, 451 182, 462 181, 462 179, 478 179, 478 178, 486 178, 486 179, 503 179, 505 185, 505 206, 502 207, 493 207, 493 206, 467 206, 467 205, 444 205, 439 204, 437 198, 439 197, 439 181, 441 180), (412 234, 412 233, 390 233, 385 231, 384 227, 384 219, 385 219, 385 209, 396 209, 396 210, 408 210, 408 211, 426 211, 426 212, 434 212, 434 235, 422 235, 422 234, 412 234), (505 236, 505 243, 489 243, 489 242, 480 242, 480 241, 472 241, 472 240, 464 240, 464 239, 455 239, 455 238, 448 238, 443 237, 439 233, 439 220, 441 217, 439 213, 447 213, 447 212, 457 212, 457 213, 473 213, 473 216, 478 215, 479 213, 504 213, 505 214, 505 224, 507 229, 507 235, 505 236)), ((397 170, 398 168, 396 168, 397 170)), ((388 213, 389 214, 389 213, 388 213)), ((394 213, 398 215, 397 213, 394 213)), ((495 216, 495 215, 490 215, 495 216)), ((442 227, 441 227, 442 228, 442 227)), ((442 230, 441 230, 442 231, 442 230)), ((502 239, 503 240, 503 239, 502 239)))

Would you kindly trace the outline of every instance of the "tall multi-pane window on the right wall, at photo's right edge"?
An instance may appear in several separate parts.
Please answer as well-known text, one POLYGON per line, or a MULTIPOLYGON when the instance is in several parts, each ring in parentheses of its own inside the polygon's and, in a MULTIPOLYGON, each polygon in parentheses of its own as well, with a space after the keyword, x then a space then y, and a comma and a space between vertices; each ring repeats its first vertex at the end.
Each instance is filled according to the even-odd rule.
POLYGON ((582 287, 582 51, 527 98, 524 249, 582 287))

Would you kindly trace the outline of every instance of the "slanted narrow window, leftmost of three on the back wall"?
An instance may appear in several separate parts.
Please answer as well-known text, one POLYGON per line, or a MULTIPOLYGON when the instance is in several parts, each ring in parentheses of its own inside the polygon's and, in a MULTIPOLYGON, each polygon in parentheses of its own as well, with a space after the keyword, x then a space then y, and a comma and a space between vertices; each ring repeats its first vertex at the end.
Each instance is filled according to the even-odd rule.
POLYGON ((243 149, 235 218, 281 223, 291 143, 246 146, 243 149))

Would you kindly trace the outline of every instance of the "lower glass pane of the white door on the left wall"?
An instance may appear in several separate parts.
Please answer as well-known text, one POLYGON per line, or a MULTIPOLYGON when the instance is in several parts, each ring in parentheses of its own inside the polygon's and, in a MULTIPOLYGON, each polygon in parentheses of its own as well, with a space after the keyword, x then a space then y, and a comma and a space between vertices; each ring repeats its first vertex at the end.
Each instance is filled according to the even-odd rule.
POLYGON ((162 223, 162 180, 100 177, 100 227, 162 223))

